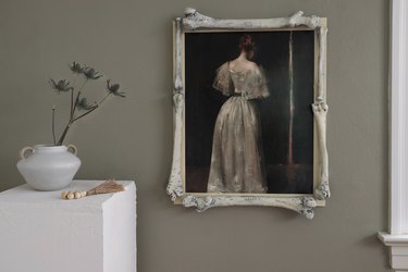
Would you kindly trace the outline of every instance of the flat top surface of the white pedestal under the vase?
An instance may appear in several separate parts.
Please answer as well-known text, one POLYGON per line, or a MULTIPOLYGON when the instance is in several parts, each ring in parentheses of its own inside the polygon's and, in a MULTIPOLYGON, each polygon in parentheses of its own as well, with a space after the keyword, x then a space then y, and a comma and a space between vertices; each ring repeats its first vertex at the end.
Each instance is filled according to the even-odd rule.
MULTIPOLYGON (((119 193, 112 194, 101 194, 96 196, 84 197, 81 199, 64 200, 61 199, 62 191, 69 190, 89 190, 99 184, 102 184, 104 181, 73 181, 70 186, 61 190, 53 191, 39 191, 33 189, 29 185, 25 184, 9 190, 0 193, 0 206, 2 205, 62 205, 66 207, 101 207, 103 202, 112 198, 119 193)), ((116 181, 126 188, 134 186, 132 181, 116 181)))

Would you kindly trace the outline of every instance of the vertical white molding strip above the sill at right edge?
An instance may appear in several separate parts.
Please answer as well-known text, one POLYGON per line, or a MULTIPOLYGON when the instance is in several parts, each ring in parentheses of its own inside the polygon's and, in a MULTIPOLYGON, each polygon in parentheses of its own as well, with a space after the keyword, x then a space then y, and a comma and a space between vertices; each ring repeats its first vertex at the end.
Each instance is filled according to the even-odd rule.
POLYGON ((408 233, 408 173, 406 171, 408 149, 407 133, 407 85, 408 62, 407 21, 408 1, 392 2, 391 44, 391 233, 408 233))

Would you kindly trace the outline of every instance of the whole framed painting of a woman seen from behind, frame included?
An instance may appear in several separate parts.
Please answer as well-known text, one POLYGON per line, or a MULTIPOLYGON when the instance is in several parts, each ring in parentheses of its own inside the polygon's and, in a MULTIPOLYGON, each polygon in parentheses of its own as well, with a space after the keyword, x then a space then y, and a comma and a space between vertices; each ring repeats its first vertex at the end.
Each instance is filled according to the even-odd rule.
POLYGON ((272 206, 313 218, 330 196, 326 18, 174 21, 168 194, 205 211, 272 206))

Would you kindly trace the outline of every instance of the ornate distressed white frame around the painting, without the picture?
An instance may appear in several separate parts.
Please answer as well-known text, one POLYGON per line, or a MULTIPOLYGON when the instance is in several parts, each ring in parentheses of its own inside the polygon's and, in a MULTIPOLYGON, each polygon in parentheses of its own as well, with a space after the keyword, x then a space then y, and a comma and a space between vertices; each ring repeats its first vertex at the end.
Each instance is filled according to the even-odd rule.
POLYGON ((197 211, 205 211, 221 206, 272 206, 294 210, 312 219, 314 208, 324 206, 330 197, 329 159, 326 149, 326 20, 318 16, 304 16, 301 11, 288 17, 258 18, 258 20, 221 20, 200 14, 187 8, 185 17, 174 21, 174 149, 172 171, 166 193, 172 201, 185 207, 196 207, 197 211), (183 186, 184 165, 184 94, 183 86, 183 35, 185 32, 202 29, 210 30, 240 30, 240 29, 283 29, 297 28, 313 29, 318 35, 318 73, 314 101, 311 104, 314 115, 314 134, 317 140, 318 182, 314 183, 313 195, 275 195, 275 194, 198 194, 186 193, 183 186))

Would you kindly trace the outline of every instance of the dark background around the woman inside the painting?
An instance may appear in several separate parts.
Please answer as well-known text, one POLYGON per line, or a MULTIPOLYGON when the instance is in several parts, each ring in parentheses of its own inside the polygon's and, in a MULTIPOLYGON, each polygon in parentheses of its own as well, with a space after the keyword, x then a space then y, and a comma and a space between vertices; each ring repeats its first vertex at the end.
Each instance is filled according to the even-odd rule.
MULTIPOLYGON (((205 193, 211 161, 213 126, 227 99, 212 88, 217 69, 238 57, 244 33, 187 33, 186 191, 205 193)), ((270 97, 258 100, 269 193, 311 194, 313 190, 314 33, 293 32, 293 161, 289 162, 290 32, 251 32, 257 44, 252 61, 265 72, 270 97)))

